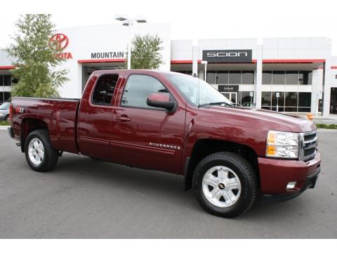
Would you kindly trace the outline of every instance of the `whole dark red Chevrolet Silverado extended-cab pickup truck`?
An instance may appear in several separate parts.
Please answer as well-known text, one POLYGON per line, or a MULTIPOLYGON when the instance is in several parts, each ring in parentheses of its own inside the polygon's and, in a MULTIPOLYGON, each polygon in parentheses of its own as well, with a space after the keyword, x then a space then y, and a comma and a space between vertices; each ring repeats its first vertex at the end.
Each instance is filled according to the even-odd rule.
POLYGON ((295 197, 320 171, 313 122, 234 106, 176 72, 96 71, 81 100, 12 98, 10 110, 8 133, 35 171, 53 169, 70 152, 179 174, 218 216, 242 214, 259 193, 295 197))

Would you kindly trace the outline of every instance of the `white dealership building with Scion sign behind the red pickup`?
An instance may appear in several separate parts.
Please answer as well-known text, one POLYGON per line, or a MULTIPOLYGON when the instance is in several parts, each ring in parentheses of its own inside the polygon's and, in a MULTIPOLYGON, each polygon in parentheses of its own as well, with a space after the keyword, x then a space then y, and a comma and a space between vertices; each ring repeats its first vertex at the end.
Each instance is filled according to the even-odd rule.
MULTIPOLYGON (((337 57, 324 37, 171 40, 168 24, 121 24, 72 27, 52 38, 60 43, 70 82, 60 94, 79 98, 94 70, 126 68, 130 34, 158 34, 164 63, 159 70, 197 74, 242 105, 279 112, 337 113, 337 57), (206 70, 206 75, 205 75, 206 70)), ((224 34, 225 36, 225 34, 224 34)), ((11 96, 10 70, 0 51, 0 103, 11 96)))

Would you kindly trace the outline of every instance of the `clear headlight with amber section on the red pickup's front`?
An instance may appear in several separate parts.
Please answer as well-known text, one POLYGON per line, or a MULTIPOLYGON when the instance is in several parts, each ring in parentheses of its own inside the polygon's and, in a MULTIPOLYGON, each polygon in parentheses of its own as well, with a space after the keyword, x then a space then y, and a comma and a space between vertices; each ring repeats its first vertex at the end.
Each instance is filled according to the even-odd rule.
POLYGON ((267 157, 298 158, 298 134, 284 131, 268 131, 267 157))

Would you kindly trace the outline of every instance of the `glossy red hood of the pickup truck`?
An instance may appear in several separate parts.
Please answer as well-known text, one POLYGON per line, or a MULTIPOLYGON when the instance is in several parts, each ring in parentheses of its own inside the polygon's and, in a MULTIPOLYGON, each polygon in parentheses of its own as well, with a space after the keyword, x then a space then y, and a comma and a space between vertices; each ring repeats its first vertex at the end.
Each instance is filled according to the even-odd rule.
MULTIPOLYGON (((270 126, 273 126, 274 130, 282 131, 282 129, 288 128, 294 133, 300 133, 305 131, 313 131, 316 129, 315 123, 305 119, 304 117, 286 115, 284 113, 273 112, 270 110, 230 108, 221 106, 209 106, 208 110, 213 112, 234 114, 241 117, 249 117, 250 119, 256 119, 256 122, 263 121, 265 124, 270 124, 270 126), (279 126, 277 129, 275 129, 275 124, 279 126)), ((249 120, 249 122, 252 122, 252 120, 249 120)))

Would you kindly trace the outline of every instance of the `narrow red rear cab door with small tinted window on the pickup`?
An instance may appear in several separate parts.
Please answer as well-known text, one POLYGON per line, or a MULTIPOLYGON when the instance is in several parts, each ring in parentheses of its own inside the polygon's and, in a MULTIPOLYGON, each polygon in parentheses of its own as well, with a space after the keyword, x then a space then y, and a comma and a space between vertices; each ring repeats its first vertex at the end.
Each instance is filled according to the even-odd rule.
POLYGON ((119 74, 92 77, 81 100, 78 117, 79 152, 90 157, 111 160, 109 148, 112 98, 119 74))

